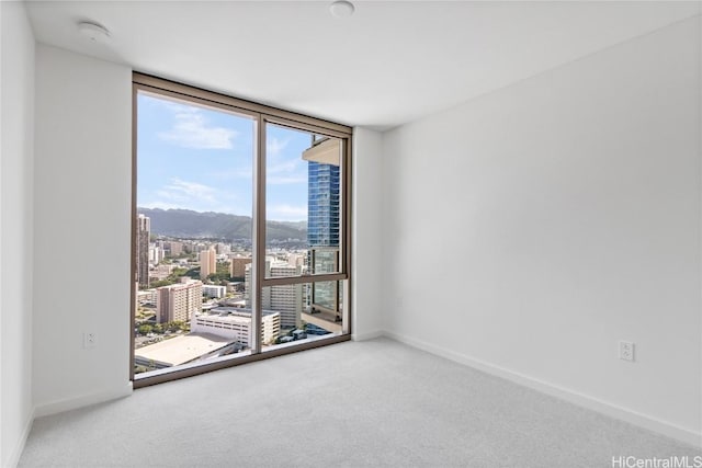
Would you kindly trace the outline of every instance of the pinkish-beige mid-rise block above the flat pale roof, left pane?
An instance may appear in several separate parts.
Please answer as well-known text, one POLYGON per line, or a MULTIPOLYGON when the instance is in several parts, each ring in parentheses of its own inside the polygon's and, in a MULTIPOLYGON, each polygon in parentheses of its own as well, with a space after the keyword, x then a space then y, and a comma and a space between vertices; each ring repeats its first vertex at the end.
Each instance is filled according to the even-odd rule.
POLYGON ((156 289, 156 322, 189 321, 202 311, 202 282, 190 279, 156 289))

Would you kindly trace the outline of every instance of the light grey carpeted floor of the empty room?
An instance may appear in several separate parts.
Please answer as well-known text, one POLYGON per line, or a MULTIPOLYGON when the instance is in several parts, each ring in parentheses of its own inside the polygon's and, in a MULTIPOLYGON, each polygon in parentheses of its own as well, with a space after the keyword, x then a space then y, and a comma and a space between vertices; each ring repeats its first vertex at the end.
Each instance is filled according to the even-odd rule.
POLYGON ((593 468, 620 456, 702 453, 377 339, 37 419, 20 467, 593 468))

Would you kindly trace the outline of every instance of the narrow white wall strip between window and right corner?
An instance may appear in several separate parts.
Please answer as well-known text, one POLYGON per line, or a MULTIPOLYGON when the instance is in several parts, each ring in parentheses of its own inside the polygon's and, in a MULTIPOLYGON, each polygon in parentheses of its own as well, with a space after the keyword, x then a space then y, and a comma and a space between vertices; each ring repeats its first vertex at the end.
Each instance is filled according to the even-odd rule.
POLYGON ((352 157, 352 323, 353 339, 378 336, 381 322, 381 153, 382 134, 353 130, 352 157))

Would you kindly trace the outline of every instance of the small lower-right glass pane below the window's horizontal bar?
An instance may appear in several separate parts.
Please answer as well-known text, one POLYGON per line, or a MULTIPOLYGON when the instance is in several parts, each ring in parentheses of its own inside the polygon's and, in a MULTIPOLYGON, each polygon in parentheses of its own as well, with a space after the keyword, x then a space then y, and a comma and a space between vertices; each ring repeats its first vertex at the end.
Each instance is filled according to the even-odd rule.
POLYGON ((262 341, 263 352, 336 336, 343 331, 342 281, 269 286, 262 293, 263 320, 280 318, 276 333, 265 335, 262 341))

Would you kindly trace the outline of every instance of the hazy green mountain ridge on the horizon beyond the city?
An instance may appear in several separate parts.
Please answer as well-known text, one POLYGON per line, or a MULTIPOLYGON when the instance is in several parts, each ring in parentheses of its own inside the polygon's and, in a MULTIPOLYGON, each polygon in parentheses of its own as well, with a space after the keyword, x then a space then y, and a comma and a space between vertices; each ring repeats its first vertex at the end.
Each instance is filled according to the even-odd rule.
MULTIPOLYGON (((180 238, 251 239, 251 218, 225 213, 200 213, 190 209, 137 208, 151 220, 151 232, 180 238)), ((268 221, 269 241, 307 239, 306 222, 268 221)))

